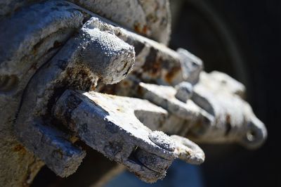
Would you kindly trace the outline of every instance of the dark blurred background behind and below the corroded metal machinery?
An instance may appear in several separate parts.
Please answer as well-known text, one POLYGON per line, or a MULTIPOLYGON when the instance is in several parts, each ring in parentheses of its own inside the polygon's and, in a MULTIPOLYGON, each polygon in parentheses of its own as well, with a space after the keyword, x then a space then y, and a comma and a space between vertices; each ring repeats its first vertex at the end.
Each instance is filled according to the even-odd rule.
MULTIPOLYGON (((171 0, 171 13, 170 47, 202 58, 207 72, 226 72, 245 84, 246 99, 266 124, 268 140, 258 150, 200 145, 206 154, 200 167, 177 161, 155 184, 123 172, 106 186, 281 186, 281 1, 171 0)), ((32 186, 91 186, 100 169, 114 162, 93 150, 87 153, 77 173, 60 179, 44 167, 32 186)))

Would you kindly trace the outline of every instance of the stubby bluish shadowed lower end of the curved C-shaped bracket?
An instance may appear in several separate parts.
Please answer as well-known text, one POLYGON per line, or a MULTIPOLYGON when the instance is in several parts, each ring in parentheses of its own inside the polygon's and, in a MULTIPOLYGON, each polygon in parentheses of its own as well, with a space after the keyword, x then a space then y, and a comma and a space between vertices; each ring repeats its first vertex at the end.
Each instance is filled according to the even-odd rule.
POLYGON ((30 122, 28 130, 18 128, 21 130, 19 136, 25 137, 21 138, 22 143, 44 160, 55 174, 69 176, 77 170, 86 153, 72 145, 69 135, 41 123, 41 120, 30 122))

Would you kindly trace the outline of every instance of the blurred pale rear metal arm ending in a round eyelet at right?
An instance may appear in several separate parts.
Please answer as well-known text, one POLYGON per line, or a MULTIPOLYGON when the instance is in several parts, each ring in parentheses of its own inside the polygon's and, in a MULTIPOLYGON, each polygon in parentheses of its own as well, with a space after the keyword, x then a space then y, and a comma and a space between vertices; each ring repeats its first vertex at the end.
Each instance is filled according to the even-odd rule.
POLYGON ((168 119, 162 127, 166 133, 188 136, 195 142, 237 142, 247 148, 258 148, 266 140, 264 124, 256 118, 249 104, 237 96, 242 94, 244 86, 228 75, 213 72, 209 76, 202 72, 200 82, 187 101, 178 100, 178 92, 171 86, 134 84, 138 84, 131 89, 135 96, 168 110, 174 115, 171 119, 181 118, 176 122, 168 119))

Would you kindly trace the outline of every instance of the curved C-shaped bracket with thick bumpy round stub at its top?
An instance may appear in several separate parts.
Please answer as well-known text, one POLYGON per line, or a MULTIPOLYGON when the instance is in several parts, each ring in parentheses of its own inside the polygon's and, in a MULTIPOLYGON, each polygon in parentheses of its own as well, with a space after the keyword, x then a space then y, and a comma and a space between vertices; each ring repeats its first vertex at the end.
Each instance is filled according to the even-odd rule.
MULTIPOLYGON (((25 91, 15 124, 16 134, 25 147, 60 176, 68 176, 75 172, 84 153, 74 148, 70 137, 62 141, 61 138, 56 138, 55 134, 51 136, 49 131, 45 134, 41 128, 36 128, 38 120, 43 126, 46 124, 52 126, 53 122, 48 117, 50 102, 53 102, 55 94, 59 94, 63 88, 88 90, 98 79, 106 83, 118 82, 126 77, 134 62, 132 46, 113 34, 98 30, 89 22, 81 28, 77 37, 69 39, 50 62, 34 75, 25 91), (95 58, 86 58, 85 56, 91 55, 89 53, 97 55, 95 58), (105 70, 115 68, 115 65, 122 68, 111 69, 112 77, 109 78, 108 72, 95 68, 97 64, 105 70), (27 134, 30 136, 26 136, 27 134), (38 136, 41 136, 39 141, 38 136), (45 144, 46 146, 42 146, 45 144), (53 152, 56 150, 61 154, 60 160, 55 160, 53 152)), ((61 134, 58 129, 54 131, 61 134)))

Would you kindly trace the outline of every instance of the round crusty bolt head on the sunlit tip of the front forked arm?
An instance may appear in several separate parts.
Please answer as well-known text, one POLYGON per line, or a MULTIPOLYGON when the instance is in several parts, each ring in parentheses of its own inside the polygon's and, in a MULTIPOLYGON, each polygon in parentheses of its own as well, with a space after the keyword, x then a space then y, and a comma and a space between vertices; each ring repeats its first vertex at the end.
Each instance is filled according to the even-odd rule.
POLYGON ((148 137, 160 148, 164 148, 169 151, 174 151, 176 149, 174 141, 162 131, 152 131, 148 137))

